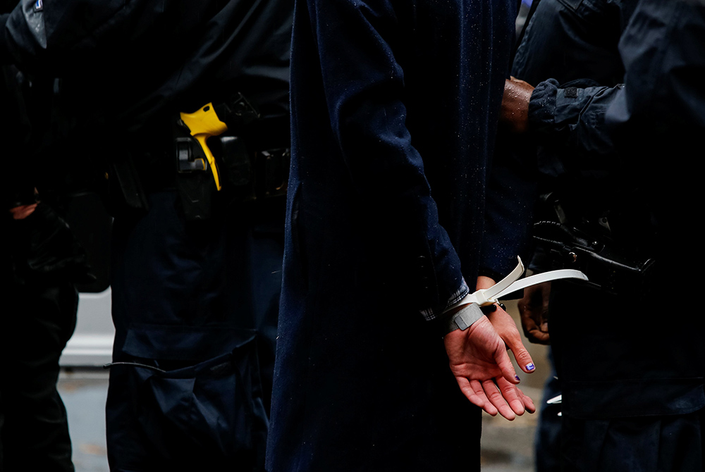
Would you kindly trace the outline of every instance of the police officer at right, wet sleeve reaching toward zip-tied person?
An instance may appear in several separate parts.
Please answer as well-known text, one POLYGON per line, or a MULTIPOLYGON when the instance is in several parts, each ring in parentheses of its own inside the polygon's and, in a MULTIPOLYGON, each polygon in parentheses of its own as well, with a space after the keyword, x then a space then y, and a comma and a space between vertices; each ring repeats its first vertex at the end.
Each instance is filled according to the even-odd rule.
MULTIPOLYGON (((691 286, 680 210, 692 209, 696 186, 675 168, 702 122, 695 107, 677 113, 673 96, 699 103, 702 8, 541 0, 517 51, 513 75, 537 87, 508 82, 505 109, 537 142, 537 268, 590 278, 550 289, 563 471, 703 468, 703 322, 669 308, 676 287, 691 286), (621 127, 611 129, 615 107, 621 127)), ((541 335, 540 317, 525 314, 529 335, 541 335)))

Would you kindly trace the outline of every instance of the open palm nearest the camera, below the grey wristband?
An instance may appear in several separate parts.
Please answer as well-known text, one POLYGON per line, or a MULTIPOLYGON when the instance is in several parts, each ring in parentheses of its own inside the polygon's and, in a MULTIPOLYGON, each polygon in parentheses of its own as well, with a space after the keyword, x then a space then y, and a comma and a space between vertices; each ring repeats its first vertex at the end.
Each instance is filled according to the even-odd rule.
POLYGON ((467 330, 448 333, 443 342, 463 395, 488 414, 508 420, 524 411, 536 411, 532 400, 516 387, 519 383, 505 344, 489 319, 483 316, 467 330))

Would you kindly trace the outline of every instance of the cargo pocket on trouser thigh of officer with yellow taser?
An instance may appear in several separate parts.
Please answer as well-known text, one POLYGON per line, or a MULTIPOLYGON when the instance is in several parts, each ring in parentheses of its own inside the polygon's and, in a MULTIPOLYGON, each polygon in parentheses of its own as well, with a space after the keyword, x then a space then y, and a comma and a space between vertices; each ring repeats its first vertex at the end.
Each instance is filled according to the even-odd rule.
POLYGON ((268 420, 254 330, 136 325, 122 359, 109 365, 111 378, 129 392, 147 449, 179 463, 255 469, 268 420))

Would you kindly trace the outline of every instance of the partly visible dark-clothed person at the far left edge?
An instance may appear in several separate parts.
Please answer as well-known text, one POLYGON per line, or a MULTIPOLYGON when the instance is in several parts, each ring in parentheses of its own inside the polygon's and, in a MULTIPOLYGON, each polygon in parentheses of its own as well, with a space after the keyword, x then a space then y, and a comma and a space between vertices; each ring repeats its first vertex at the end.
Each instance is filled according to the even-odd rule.
MULTIPOLYGON (((25 93, 27 78, 10 66, 1 70, 0 471, 73 471, 56 380, 59 357, 76 323, 75 282, 88 278, 85 253, 60 216, 62 204, 52 198, 52 179, 33 165, 42 135, 32 97, 25 93)), ((49 116, 46 104, 40 109, 49 116)))

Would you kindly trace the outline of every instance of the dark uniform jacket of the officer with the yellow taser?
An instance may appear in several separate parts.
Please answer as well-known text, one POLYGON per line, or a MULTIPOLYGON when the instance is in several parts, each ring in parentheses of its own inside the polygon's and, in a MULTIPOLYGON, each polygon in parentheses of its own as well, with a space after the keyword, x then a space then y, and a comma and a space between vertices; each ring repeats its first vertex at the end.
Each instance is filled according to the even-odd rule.
POLYGON ((63 77, 66 106, 97 131, 134 132, 234 92, 281 116, 290 15, 279 0, 25 0, 0 16, 0 61, 63 77))

